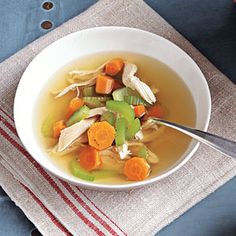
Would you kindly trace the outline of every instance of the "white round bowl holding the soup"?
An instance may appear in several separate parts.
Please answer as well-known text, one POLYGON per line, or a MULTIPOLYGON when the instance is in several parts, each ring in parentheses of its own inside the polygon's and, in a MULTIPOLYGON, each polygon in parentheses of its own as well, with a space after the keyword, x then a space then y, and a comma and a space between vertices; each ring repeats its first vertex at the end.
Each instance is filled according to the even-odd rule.
POLYGON ((98 27, 82 30, 49 45, 25 70, 15 96, 14 117, 19 137, 28 152, 45 169, 72 184, 96 190, 124 190, 163 179, 184 165, 199 144, 192 142, 178 162, 163 174, 141 182, 108 185, 90 183, 69 175, 56 167, 41 150, 34 133, 33 112, 37 97, 47 80, 61 67, 79 57, 104 52, 129 51, 144 54, 167 64, 185 82, 196 106, 196 128, 206 130, 210 120, 211 97, 207 82, 196 63, 170 41, 138 29, 98 27))

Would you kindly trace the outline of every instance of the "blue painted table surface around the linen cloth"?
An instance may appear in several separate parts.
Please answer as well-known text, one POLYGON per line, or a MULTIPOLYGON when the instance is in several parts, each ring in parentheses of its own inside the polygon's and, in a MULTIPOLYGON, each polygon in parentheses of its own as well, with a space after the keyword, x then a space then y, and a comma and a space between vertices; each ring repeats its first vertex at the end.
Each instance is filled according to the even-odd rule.
MULTIPOLYGON (((78 15, 96 0, 0 0, 0 62, 78 15)), ((209 60, 236 83, 236 4, 231 0, 146 0, 209 60)), ((236 235, 236 177, 162 229, 158 236, 236 235)), ((33 224, 0 188, 0 236, 30 235, 33 224)))

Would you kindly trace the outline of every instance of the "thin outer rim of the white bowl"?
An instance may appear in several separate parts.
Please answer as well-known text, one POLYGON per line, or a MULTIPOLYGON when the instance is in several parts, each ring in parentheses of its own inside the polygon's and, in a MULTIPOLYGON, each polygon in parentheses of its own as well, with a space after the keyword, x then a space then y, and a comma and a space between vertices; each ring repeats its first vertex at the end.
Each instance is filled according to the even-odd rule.
POLYGON ((157 34, 154 34, 152 32, 149 31, 145 31, 145 30, 141 30, 138 28, 131 28, 131 27, 124 27, 124 26, 101 26, 101 27, 92 27, 92 28, 87 28, 87 29, 83 29, 83 30, 79 30, 73 33, 70 33, 58 40, 56 40, 55 42, 49 44, 46 48, 44 48, 40 53, 38 53, 33 60, 29 63, 29 65, 27 66, 27 68, 25 69, 24 73, 21 76, 20 82, 17 86, 16 89, 16 94, 15 94, 15 98, 14 98, 14 105, 13 105, 13 115, 14 115, 14 121, 15 121, 15 126, 16 126, 16 131, 18 133, 18 136, 21 140, 21 142, 23 143, 24 147, 26 148, 26 150, 30 153, 30 155, 33 157, 34 160, 36 160, 45 170, 47 170, 48 172, 50 172, 51 174, 53 174, 54 176, 69 182, 73 185, 77 185, 83 188, 87 188, 87 189, 93 189, 93 190, 106 190, 106 191, 123 191, 123 190, 128 190, 128 189, 134 189, 134 188, 139 188, 145 185, 150 185, 154 182, 157 182, 169 175, 171 175, 172 173, 174 173, 175 171, 177 171, 179 168, 181 168, 193 155, 194 153, 197 151, 197 149, 199 148, 200 143, 196 142, 196 144, 194 144, 193 148, 191 149, 191 151, 178 163, 176 164, 175 167, 169 169, 167 172, 160 174, 159 176, 153 177, 151 179, 146 179, 143 181, 137 181, 137 182, 131 182, 131 183, 125 183, 125 184, 102 184, 102 183, 93 183, 93 182, 82 182, 79 178, 78 181, 76 180, 71 180, 68 178, 64 178, 63 176, 59 175, 58 173, 55 173, 54 171, 50 170, 45 164, 44 162, 41 162, 40 159, 38 159, 37 157, 35 157, 35 154, 33 152, 31 152, 31 150, 29 150, 27 148, 27 146, 29 145, 28 143, 25 142, 23 135, 21 134, 21 132, 19 131, 20 128, 20 123, 18 123, 18 119, 17 119, 17 100, 18 97, 20 96, 21 93, 21 89, 22 89, 22 81, 25 80, 25 74, 26 71, 28 69, 29 66, 32 65, 32 63, 41 56, 42 53, 44 53, 45 50, 47 50, 50 47, 54 47, 55 44, 57 44, 58 42, 64 41, 69 37, 73 37, 74 35, 77 34, 81 34, 84 32, 89 32, 89 31, 103 31, 103 30, 122 30, 122 31, 133 31, 133 32, 140 32, 142 34, 146 34, 147 36, 150 36, 152 38, 156 38, 158 40, 161 40, 165 43, 171 44, 172 47, 175 47, 177 50, 180 50, 186 57, 186 59, 188 59, 189 63, 195 67, 195 69, 198 71, 198 73, 201 75, 201 82, 204 86, 205 91, 207 92, 207 114, 206 114, 206 120, 204 121, 204 128, 203 131, 207 131, 207 128, 209 126, 209 122, 210 122, 210 117, 211 117, 211 95, 210 95, 210 89, 207 83, 207 80, 205 78, 205 76, 203 75, 202 71, 200 70, 199 66, 197 65, 197 63, 183 50, 181 49, 179 46, 177 46, 176 44, 174 44, 173 42, 171 42, 170 40, 159 36, 157 34))

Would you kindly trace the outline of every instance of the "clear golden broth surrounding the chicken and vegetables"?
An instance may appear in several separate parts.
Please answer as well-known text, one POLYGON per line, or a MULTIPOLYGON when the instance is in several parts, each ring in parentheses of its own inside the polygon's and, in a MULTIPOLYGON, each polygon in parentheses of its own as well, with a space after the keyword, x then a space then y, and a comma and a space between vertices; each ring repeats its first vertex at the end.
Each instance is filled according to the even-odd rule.
MULTIPOLYGON (((74 69, 94 69, 105 61, 114 57, 121 57, 138 66, 138 77, 149 86, 158 88, 157 99, 168 111, 165 119, 187 126, 195 126, 196 111, 193 98, 177 73, 160 61, 141 54, 130 52, 112 52, 88 55, 79 58, 58 70, 49 79, 38 98, 36 108, 36 134, 42 149, 47 151, 55 145, 55 140, 45 138, 41 134, 41 126, 46 117, 52 116, 59 120, 64 117, 65 110, 75 92, 70 92, 63 98, 55 99, 52 91, 68 86, 66 78, 68 72, 74 69)), ((159 156, 159 163, 152 165, 152 172, 149 178, 160 175, 168 168, 171 168, 184 154, 190 144, 191 139, 180 132, 170 128, 165 128, 160 138, 149 143, 147 146, 159 156)), ((77 153, 71 153, 62 157, 50 155, 51 161, 63 171, 71 174, 69 163, 77 157, 77 153)), ((114 176, 95 182, 106 184, 121 184, 128 181, 124 176, 114 176)))

